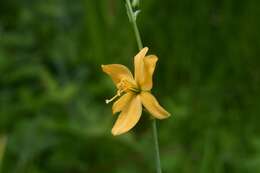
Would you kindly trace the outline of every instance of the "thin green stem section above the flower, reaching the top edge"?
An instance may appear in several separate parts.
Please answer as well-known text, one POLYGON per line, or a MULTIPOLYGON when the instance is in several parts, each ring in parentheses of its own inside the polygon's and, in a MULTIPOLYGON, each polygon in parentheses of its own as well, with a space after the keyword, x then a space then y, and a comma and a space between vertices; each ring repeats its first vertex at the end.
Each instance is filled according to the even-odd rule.
POLYGON ((131 6, 130 0, 126 0, 126 10, 128 13, 129 20, 132 23, 132 27, 134 29, 138 49, 141 50, 143 48, 143 43, 141 40, 139 29, 136 24, 136 16, 135 16, 133 8, 131 6))

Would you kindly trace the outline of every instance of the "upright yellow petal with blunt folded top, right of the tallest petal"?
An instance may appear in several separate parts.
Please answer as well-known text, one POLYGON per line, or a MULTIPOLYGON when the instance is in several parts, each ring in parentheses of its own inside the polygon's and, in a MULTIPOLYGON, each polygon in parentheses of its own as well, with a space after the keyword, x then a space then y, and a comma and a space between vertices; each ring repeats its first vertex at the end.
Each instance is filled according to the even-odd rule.
POLYGON ((153 72, 156 67, 158 58, 155 55, 149 55, 144 57, 144 70, 143 81, 140 81, 140 87, 142 90, 150 91, 153 87, 153 72))

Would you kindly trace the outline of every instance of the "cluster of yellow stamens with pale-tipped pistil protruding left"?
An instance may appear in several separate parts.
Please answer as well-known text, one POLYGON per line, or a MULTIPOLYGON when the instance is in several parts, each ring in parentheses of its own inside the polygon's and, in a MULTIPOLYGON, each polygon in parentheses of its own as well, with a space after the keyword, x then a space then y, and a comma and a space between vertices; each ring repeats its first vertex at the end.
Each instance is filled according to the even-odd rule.
POLYGON ((132 82, 128 81, 127 79, 122 79, 118 84, 117 84, 117 93, 114 97, 112 97, 111 99, 107 99, 106 100, 106 104, 112 102, 113 100, 115 100, 117 97, 120 97, 122 95, 122 93, 125 92, 135 92, 135 93, 139 93, 140 90, 139 88, 133 84, 132 82))

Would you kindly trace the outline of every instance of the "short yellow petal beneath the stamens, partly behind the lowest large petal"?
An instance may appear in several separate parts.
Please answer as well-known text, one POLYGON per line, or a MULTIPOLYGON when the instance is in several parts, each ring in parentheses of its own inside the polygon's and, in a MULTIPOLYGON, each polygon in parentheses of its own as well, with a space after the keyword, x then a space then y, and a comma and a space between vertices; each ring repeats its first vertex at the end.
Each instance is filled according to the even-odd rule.
POLYGON ((126 94, 124 94, 122 97, 120 97, 114 104, 112 107, 112 112, 113 114, 120 112, 124 109, 124 107, 129 104, 129 102, 131 101, 131 99, 134 97, 134 93, 133 92, 127 92, 126 94))

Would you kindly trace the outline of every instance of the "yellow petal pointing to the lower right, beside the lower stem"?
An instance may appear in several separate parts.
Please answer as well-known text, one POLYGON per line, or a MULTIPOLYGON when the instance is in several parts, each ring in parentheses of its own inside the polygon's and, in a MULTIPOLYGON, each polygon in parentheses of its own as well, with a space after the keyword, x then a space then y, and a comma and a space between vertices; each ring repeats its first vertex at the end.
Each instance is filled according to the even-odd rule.
POLYGON ((160 106, 156 98, 150 92, 141 92, 140 96, 142 104, 152 116, 158 119, 165 119, 170 116, 170 113, 160 106))

